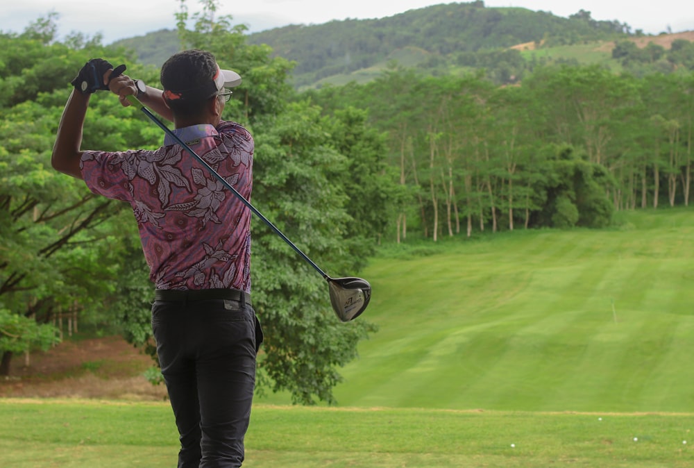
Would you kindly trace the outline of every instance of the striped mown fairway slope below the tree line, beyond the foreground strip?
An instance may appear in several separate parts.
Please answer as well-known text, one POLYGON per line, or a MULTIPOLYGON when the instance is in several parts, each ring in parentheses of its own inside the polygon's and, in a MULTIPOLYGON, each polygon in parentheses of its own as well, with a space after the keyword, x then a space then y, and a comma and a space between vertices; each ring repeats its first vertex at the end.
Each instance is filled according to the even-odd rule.
POLYGON ((373 285, 364 319, 380 331, 344 369, 339 403, 691 411, 692 215, 626 213, 612 231, 515 231, 384 253, 363 272, 373 285))

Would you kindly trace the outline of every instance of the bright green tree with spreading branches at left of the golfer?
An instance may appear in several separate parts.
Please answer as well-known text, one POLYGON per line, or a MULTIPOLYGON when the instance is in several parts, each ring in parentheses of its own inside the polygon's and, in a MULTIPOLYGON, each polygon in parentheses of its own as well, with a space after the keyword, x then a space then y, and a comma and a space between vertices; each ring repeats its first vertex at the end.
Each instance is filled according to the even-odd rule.
MULTIPOLYGON (((103 315, 106 297, 117 289, 122 249, 115 219, 124 206, 55 172, 50 156, 76 71, 93 57, 130 61, 120 49, 91 40, 71 38, 80 49, 54 42, 54 19, 39 19, 22 35, 0 35, 0 301, 22 324, 26 317, 46 323, 75 306, 87 321, 103 315)), ((107 102, 100 95, 92 99, 85 146, 119 149, 142 142, 137 132, 119 133, 141 119, 125 118, 119 127, 110 113, 115 106, 115 113, 122 112, 121 106, 107 102)), ((21 330, 23 342, 35 342, 31 328, 21 330)))

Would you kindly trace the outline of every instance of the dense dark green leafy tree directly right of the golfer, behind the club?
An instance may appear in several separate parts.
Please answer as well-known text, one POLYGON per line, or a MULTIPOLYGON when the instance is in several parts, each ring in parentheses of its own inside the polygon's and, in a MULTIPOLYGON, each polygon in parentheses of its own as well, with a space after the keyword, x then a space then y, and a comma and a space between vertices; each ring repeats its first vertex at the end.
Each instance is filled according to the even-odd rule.
MULTIPOLYGON (((331 145, 328 119, 307 103, 290 105, 257 126, 254 194, 257 208, 312 260, 334 276, 364 264, 363 239, 350 238, 344 174, 347 158, 331 145)), ((294 403, 334 402, 336 368, 356 357, 373 331, 366 321, 337 321, 325 282, 260 222, 253 224, 253 306, 265 331, 260 382, 289 390, 294 403)))

